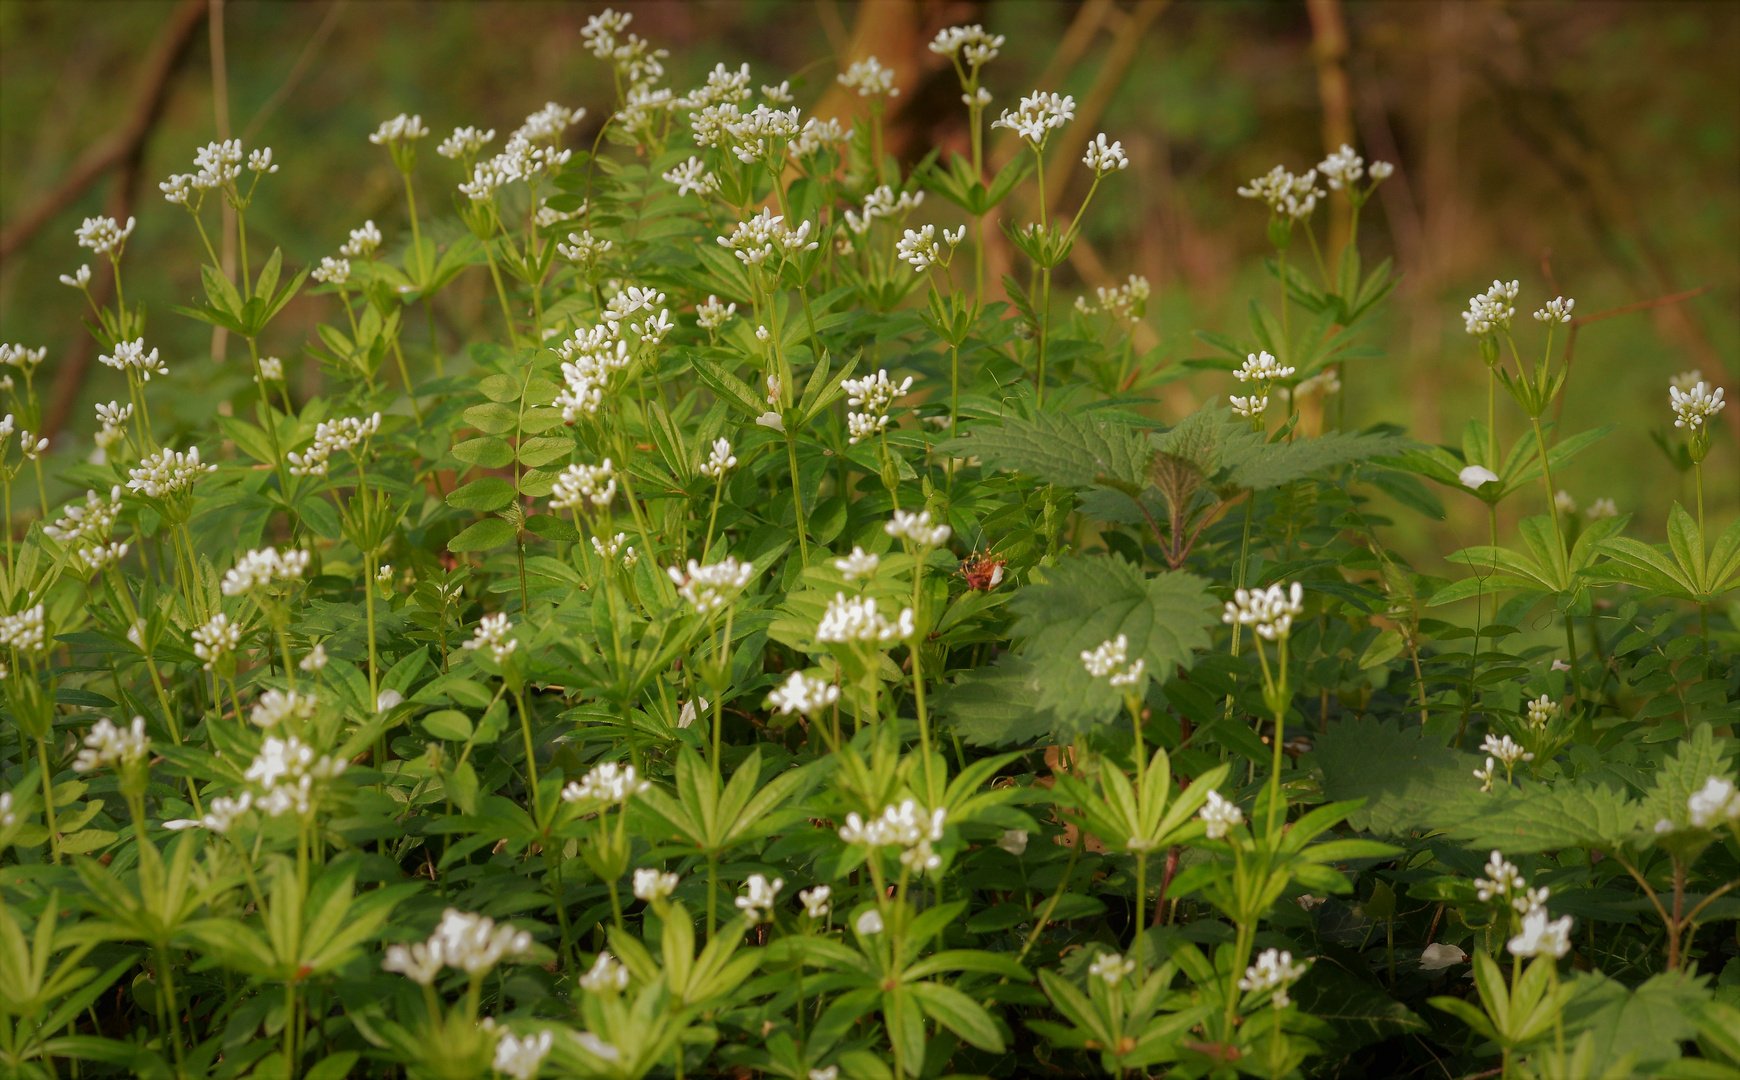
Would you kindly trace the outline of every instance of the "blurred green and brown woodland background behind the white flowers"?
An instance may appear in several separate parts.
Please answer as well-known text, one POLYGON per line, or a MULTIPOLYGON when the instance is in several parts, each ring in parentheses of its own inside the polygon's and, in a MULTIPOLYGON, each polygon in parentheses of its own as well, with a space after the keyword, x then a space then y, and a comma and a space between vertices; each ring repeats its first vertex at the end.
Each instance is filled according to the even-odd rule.
MULTIPOLYGON (((1484 414, 1486 393, 1460 311, 1495 277, 1522 282, 1524 343, 1538 341, 1526 313, 1561 292, 1587 317, 1703 289, 1590 322, 1576 337, 1563 423, 1616 430, 1561 485, 1585 506, 1615 499, 1639 515, 1637 534, 1658 537, 1669 504, 1688 497, 1651 440, 1676 438, 1669 377, 1702 369, 1735 390, 1740 5, 1728 0, 621 7, 635 14, 635 31, 670 49, 668 85, 679 90, 719 61, 748 61, 757 83, 792 78, 807 110, 849 59, 879 56, 901 85, 891 146, 914 160, 966 139, 959 87, 926 42, 974 21, 1006 35, 987 70, 994 111, 1035 85, 1072 92, 1088 134, 1122 139, 1133 162, 1096 198, 1086 245, 1063 271, 1060 310, 1091 285, 1145 275, 1155 296, 1145 344, 1166 360, 1208 351, 1190 337, 1195 329, 1241 334, 1249 297, 1272 292, 1258 264, 1263 212, 1237 198, 1241 183, 1277 162, 1303 170, 1343 137, 1368 158, 1395 162, 1359 242, 1368 264, 1394 256, 1404 278, 1366 343, 1382 358, 1345 372, 1350 424, 1392 421, 1425 440, 1460 442, 1467 419, 1484 414)), ((214 24, 228 127, 249 148, 270 144, 282 163, 249 212, 251 247, 282 245, 303 264, 332 254, 365 217, 390 243, 404 230, 397 174, 367 141, 386 117, 419 113, 440 137, 461 123, 510 130, 559 101, 590 110, 571 143, 590 144, 611 85, 579 31, 600 9, 0 0, 0 339, 49 348, 38 386, 56 461, 87 456, 90 405, 125 397, 115 372, 94 363, 80 296, 57 282, 89 261, 71 237, 85 214, 139 217, 127 247, 129 299, 150 306, 148 344, 172 369, 151 383, 153 417, 202 426, 245 386, 238 350, 214 365, 209 329, 171 311, 195 299, 200 245, 184 212, 157 191, 218 136, 214 24)), ((433 153, 421 160, 425 205, 451 217, 456 167, 433 153)), ((1065 203, 1082 188, 1077 169, 1065 203)), ((473 271, 442 296, 435 339, 444 351, 494 332, 485 290, 487 275, 473 271)), ((329 306, 299 299, 263 343, 304 370, 292 381, 301 393, 317 388, 301 348, 329 306)), ((1159 393, 1155 416, 1176 419, 1228 384, 1218 374, 1174 383, 1159 393)), ((1505 435, 1519 435, 1521 416, 1500 409, 1505 435)), ((1726 523, 1740 496, 1740 407, 1717 426, 1709 508, 1726 523)), ((1401 513, 1397 537, 1422 569, 1444 572, 1437 557, 1484 539, 1484 511, 1472 496, 1439 494, 1446 520, 1401 513)), ((1538 513, 1540 496, 1526 492, 1505 510, 1507 522, 1538 513)))

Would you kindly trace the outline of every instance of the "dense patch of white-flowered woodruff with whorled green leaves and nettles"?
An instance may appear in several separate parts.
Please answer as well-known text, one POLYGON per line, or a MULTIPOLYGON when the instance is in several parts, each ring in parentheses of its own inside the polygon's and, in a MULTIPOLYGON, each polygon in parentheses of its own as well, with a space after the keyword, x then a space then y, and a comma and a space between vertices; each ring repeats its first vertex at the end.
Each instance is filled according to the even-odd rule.
MULTIPOLYGON (((165 181, 209 257, 177 313, 251 377, 211 428, 153 424, 132 221, 78 230, 127 400, 0 572, 7 1075, 1735 1075, 1721 390, 1676 384, 1663 437, 1696 517, 1629 539, 1556 489, 1603 433, 1549 419, 1571 301, 1538 353, 1517 283, 1472 301, 1460 447, 1321 433, 1395 278, 1314 217, 1336 191, 1357 238, 1389 165, 1242 188, 1274 294, 1162 363, 1141 278, 1053 296, 1128 162, 1098 136, 1046 205, 1074 101, 987 125, 1000 37, 936 38, 971 155, 908 170, 882 64, 839 77, 847 129, 746 66, 679 96, 628 21, 586 28, 588 150, 559 104, 437 162, 383 123, 393 242, 292 273, 249 233, 270 151, 165 181), (414 330, 485 273, 494 339, 414 330), (308 292, 296 400, 263 341, 308 292), (1230 403, 1154 419, 1216 370, 1230 403), (1453 581, 1373 503, 1441 517, 1427 482, 1493 508, 1453 581), (1505 541, 1510 497, 1543 513, 1505 541)), ((44 353, 5 360, 12 513, 44 353)))

